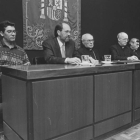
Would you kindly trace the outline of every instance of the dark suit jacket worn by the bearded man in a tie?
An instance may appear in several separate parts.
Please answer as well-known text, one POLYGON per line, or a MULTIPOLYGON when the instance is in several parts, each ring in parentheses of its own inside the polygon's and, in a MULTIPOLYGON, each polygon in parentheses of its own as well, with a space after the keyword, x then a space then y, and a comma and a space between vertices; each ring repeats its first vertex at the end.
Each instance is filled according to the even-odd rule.
MULTIPOLYGON (((64 64, 66 58, 62 58, 60 46, 58 44, 57 38, 47 39, 42 43, 44 49, 44 57, 49 64, 64 64)), ((65 43, 66 57, 78 57, 80 55, 75 50, 75 43, 69 40, 65 43)))

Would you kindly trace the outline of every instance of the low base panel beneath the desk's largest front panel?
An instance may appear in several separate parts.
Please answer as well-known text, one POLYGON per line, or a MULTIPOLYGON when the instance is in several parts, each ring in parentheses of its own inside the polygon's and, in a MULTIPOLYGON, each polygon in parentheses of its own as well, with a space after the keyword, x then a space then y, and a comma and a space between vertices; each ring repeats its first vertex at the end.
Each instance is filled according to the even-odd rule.
POLYGON ((93 140, 93 127, 90 126, 52 140, 93 140))

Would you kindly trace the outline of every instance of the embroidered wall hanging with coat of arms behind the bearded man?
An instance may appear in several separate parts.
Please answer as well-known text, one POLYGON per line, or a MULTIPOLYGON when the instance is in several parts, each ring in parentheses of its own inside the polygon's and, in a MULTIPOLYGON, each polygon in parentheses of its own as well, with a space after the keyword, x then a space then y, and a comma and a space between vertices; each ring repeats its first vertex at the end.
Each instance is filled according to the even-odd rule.
POLYGON ((54 27, 65 21, 72 27, 72 39, 79 44, 80 0, 23 0, 24 48, 42 50, 42 42, 54 27))

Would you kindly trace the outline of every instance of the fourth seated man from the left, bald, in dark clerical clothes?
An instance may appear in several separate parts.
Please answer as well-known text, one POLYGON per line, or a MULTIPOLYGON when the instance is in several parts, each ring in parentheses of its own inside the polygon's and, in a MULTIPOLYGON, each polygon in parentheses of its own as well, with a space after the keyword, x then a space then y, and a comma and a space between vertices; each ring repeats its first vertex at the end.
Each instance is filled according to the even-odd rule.
POLYGON ((128 35, 121 32, 117 35, 118 44, 111 46, 110 51, 113 60, 137 60, 132 54, 130 47, 127 45, 128 35))

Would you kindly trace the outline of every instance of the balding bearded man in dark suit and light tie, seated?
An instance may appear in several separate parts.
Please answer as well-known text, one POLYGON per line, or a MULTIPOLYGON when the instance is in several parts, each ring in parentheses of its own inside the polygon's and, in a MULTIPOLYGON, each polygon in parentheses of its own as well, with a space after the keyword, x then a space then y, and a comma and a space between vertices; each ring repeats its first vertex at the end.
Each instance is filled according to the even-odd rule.
POLYGON ((55 38, 42 43, 46 63, 79 64, 80 55, 75 50, 75 43, 70 39, 71 28, 67 23, 55 27, 55 38))

